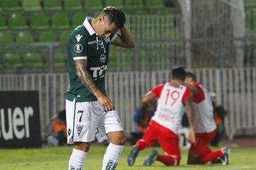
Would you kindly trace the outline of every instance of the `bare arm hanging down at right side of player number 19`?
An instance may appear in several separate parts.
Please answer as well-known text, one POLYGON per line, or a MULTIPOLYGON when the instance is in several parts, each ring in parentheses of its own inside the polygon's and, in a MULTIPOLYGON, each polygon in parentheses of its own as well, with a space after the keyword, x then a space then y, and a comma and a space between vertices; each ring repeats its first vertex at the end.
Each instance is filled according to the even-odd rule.
POLYGON ((184 103, 186 106, 186 115, 188 117, 188 124, 190 128, 189 135, 188 135, 188 142, 195 143, 196 136, 193 128, 193 107, 192 107, 191 97, 186 97, 184 103))

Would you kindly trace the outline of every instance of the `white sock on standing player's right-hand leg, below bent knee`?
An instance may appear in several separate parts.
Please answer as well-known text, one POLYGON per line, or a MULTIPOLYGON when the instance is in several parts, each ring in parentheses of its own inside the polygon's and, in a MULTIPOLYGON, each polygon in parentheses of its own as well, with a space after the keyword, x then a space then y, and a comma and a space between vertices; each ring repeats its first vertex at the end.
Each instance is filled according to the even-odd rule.
POLYGON ((117 167, 123 148, 124 145, 114 145, 110 142, 104 155, 102 170, 114 170, 117 167))

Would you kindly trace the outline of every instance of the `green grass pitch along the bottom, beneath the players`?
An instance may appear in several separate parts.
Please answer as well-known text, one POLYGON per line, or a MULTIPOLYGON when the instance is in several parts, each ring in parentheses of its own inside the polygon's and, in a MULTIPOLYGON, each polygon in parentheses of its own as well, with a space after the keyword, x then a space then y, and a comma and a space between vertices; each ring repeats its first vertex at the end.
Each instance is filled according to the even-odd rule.
MULTIPOLYGON (((87 155, 84 169, 100 170, 102 158, 106 147, 92 146, 87 155)), ((134 166, 127 166, 127 155, 132 147, 124 147, 124 152, 119 161, 119 170, 147 170, 147 169, 189 169, 189 170, 221 170, 221 169, 256 169, 256 148, 231 148, 228 166, 221 164, 206 165, 186 165, 187 149, 182 149, 181 165, 178 167, 164 166, 160 162, 155 162, 152 166, 142 166, 144 159, 149 156, 152 148, 140 152, 134 166)), ((215 148, 213 148, 215 149, 215 148)), ((157 148, 161 152, 161 148, 157 148)), ((0 169, 4 170, 63 170, 68 169, 68 159, 72 147, 45 147, 40 149, 0 149, 0 169)))

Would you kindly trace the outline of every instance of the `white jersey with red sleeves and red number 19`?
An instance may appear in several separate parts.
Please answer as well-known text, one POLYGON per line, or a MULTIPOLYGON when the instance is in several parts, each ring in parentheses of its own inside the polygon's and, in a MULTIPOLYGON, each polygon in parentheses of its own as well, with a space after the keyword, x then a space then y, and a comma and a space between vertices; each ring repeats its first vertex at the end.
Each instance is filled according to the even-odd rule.
POLYGON ((190 91, 186 86, 176 88, 166 83, 154 87, 151 92, 158 98, 156 112, 151 119, 177 134, 184 113, 184 101, 191 96, 190 91))

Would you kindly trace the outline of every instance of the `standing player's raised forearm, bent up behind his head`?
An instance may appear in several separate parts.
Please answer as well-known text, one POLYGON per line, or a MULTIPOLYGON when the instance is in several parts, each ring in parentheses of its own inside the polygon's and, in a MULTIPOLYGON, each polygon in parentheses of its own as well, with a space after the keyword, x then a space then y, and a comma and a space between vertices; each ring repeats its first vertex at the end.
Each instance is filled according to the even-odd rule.
POLYGON ((127 45, 127 48, 135 47, 135 41, 129 28, 127 28, 127 26, 124 25, 120 30, 121 30, 120 38, 127 45))

